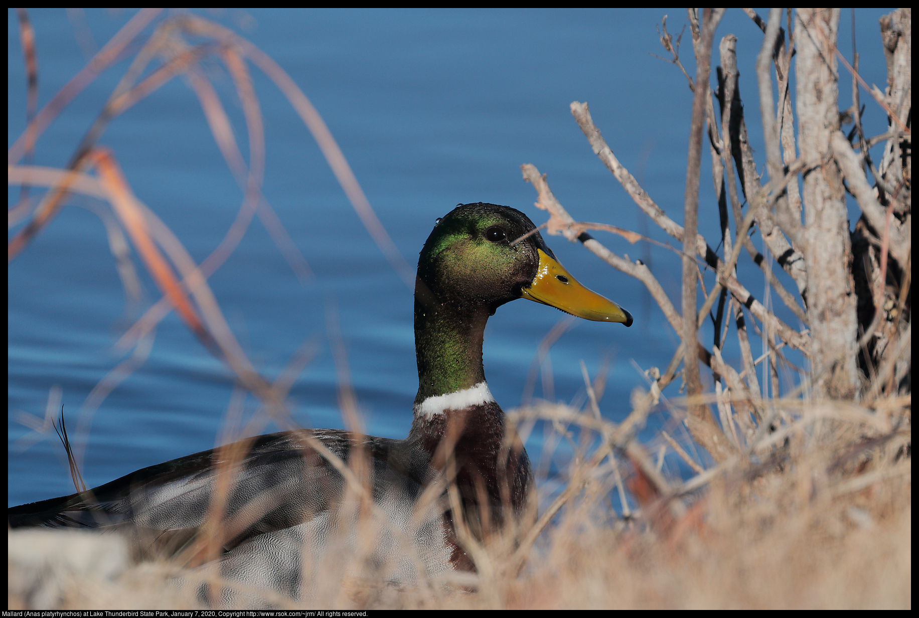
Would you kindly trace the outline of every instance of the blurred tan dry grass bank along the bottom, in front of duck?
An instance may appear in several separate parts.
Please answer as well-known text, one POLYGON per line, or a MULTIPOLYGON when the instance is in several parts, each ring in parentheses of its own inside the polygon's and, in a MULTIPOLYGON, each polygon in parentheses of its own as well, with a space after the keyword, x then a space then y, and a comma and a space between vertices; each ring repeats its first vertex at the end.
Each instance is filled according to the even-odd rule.
MULTIPOLYGON (((827 407, 833 409, 824 406, 824 412, 827 407)), ((788 427, 802 430, 790 432, 788 441, 755 459, 722 464, 714 475, 689 479, 683 487, 710 478, 683 498, 652 492, 649 499, 641 473, 632 472, 626 485, 644 498, 628 521, 609 506, 615 475, 608 468, 587 475, 519 575, 511 553, 491 547, 490 578, 397 589, 356 577, 357 569, 349 573, 348 555, 340 553, 335 567, 313 574, 316 588, 309 599, 267 593, 234 602, 314 609, 909 608, 909 420, 901 419, 900 429, 879 431, 877 423, 836 416, 824 413, 817 423, 808 423, 806 413, 792 419, 788 427), (677 501, 685 505, 678 516, 677 509, 662 508, 677 501)), ((577 467, 575 475, 584 472, 577 467)), ((680 487, 675 484, 674 493, 680 487)), ((28 543, 28 559, 15 549, 17 536, 11 537, 10 608, 200 607, 176 576, 201 581, 206 572, 167 562, 116 560, 121 566, 111 566, 110 550, 102 566, 91 557, 75 565, 60 559, 62 547, 75 544, 85 556, 82 536, 101 547, 112 537, 70 534, 79 541, 55 541, 40 567, 35 560, 42 550, 34 537, 18 541, 28 543), (35 577, 23 575, 29 572, 35 577)))

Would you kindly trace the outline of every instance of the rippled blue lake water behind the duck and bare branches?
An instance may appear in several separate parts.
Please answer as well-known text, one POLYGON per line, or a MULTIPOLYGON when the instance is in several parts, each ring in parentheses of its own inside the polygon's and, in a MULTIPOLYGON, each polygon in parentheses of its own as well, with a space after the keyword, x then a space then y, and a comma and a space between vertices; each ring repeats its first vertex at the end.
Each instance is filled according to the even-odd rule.
MULTIPOLYGON (((861 73, 881 87, 885 66, 878 18, 888 10, 857 13, 861 73)), ((765 9, 759 12, 766 15, 765 9)), ((414 266, 435 218, 458 202, 506 204, 527 212, 537 224, 545 221, 532 206, 535 191, 521 179, 523 163, 549 175, 555 195, 576 219, 667 240, 644 221, 596 159, 568 107, 573 100, 589 102, 622 163, 670 216, 682 221, 691 93, 675 66, 651 55, 665 55, 655 30, 664 13, 232 9, 201 15, 251 40, 311 97, 380 221, 414 266)), ((685 13, 670 13, 669 28, 677 33, 685 13)), ((13 11, 7 15, 7 141, 13 143, 25 127, 26 78, 17 17, 13 11)), ((40 105, 83 67, 86 54, 133 15, 30 11, 40 105)), ((849 29, 844 12, 840 46, 846 55, 851 55, 849 29)), ((762 154, 754 90, 762 35, 736 10, 722 20, 718 39, 728 32, 739 37, 742 96, 751 140, 762 154)), ((688 31, 681 49, 687 70, 694 73, 688 31)), ((129 62, 123 59, 109 68, 62 111, 41 136, 35 164, 66 165, 129 62)), ((204 68, 247 157, 243 110, 233 82, 212 58, 204 68)), ((314 356, 289 396, 290 410, 304 426, 344 426, 327 326, 334 315, 367 431, 403 437, 417 388, 412 293, 371 241, 288 102, 264 74, 255 71, 254 83, 265 119, 264 192, 314 277, 298 280, 256 220, 233 256, 210 277, 211 289, 236 338, 267 378, 283 372, 301 346, 312 346, 314 356)), ((849 101, 848 83, 846 76, 842 105, 849 101)), ((862 100, 868 103, 868 132, 883 132, 883 114, 864 93, 862 100)), ((189 253, 198 261, 207 257, 233 222, 242 195, 185 82, 174 79, 113 120, 100 143, 118 158, 137 197, 171 227, 189 253)), ((717 215, 707 148, 702 174, 700 229, 714 239, 717 215)), ((8 195, 14 204, 18 188, 8 195)), ((87 202, 71 200, 9 267, 10 505, 73 492, 54 432, 47 426, 35 432, 22 422, 29 417, 41 423, 55 393, 62 393, 71 437, 85 453, 82 466, 89 486, 212 448, 221 441, 231 406, 230 372, 176 315, 169 315, 156 330, 149 357, 95 412, 81 412, 96 384, 126 360, 113 344, 139 315, 125 300, 106 228, 86 210, 92 206, 87 202)), ((631 246, 614 235, 598 237, 612 250, 651 264, 679 306, 680 265, 673 253, 631 246)), ((551 389, 538 380, 535 395, 582 401, 580 361, 591 377, 608 361, 601 409, 607 418, 621 419, 630 410, 630 391, 645 384, 633 362, 642 369, 663 369, 675 349, 675 335, 636 281, 562 237, 546 240, 575 276, 628 308, 635 325, 574 322, 551 349, 551 389)), ((136 257, 134 262, 140 270, 136 257)), ((740 268, 747 276, 756 271, 745 256, 740 268)), ((143 273, 141 280, 145 309, 158 292, 143 273)), ((761 297, 761 278, 756 281, 760 287, 754 293, 761 297)), ((781 303, 777 312, 797 325, 781 303)), ((519 302, 505 305, 489 322, 485 371, 505 409, 519 404, 539 341, 563 317, 548 307, 519 302)), ((710 344, 711 334, 705 333, 704 340, 710 344)), ((754 341, 754 353, 757 346, 754 341)), ((726 354, 736 360, 735 351, 726 354)), ((675 394, 676 388, 667 392, 675 394)), ((246 400, 246 420, 256 407, 252 398, 246 400)), ((659 426, 668 418, 662 407, 651 422, 659 426)), ((275 429, 261 423, 251 430, 275 429)), ((541 436, 541 429, 534 431, 528 442, 534 458, 539 458, 541 436)), ((668 459, 667 466, 678 472, 677 463, 668 459)))

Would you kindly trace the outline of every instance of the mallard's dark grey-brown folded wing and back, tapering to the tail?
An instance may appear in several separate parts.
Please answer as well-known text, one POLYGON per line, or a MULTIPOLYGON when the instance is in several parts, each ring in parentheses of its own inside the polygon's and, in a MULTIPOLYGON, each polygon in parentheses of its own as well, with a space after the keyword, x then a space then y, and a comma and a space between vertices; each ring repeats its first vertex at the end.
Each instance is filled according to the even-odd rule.
MULTIPOLYGON (((8 510, 9 526, 128 529, 174 552, 198 535, 215 499, 221 499, 221 541, 228 552, 258 535, 310 521, 341 499, 344 477, 306 443, 304 433, 284 431, 234 442, 85 492, 14 507, 8 510), (228 464, 233 452, 236 463, 228 464)), ((353 434, 336 429, 309 434, 348 461, 353 434)), ((369 453, 375 500, 383 503, 398 495, 400 503, 411 504, 432 475, 425 453, 407 441, 361 436, 359 442, 369 453)))

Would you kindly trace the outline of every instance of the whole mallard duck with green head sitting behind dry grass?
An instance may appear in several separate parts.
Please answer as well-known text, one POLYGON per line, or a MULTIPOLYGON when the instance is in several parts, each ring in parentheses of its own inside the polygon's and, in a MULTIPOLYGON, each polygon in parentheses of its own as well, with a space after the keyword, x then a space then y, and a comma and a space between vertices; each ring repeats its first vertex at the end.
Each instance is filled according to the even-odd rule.
POLYGON ((341 515, 345 477, 313 448, 315 442, 310 445, 314 439, 348 465, 355 462, 356 444, 369 455, 372 498, 377 512, 391 520, 392 530, 380 529, 375 554, 377 564, 389 565, 385 578, 412 580, 417 557, 428 575, 474 570, 458 539, 458 517, 464 530, 483 539, 508 518, 526 525, 535 514, 527 452, 505 428, 482 369, 485 322, 517 298, 588 320, 632 323, 629 312, 562 267, 523 212, 460 204, 437 219, 418 260, 418 394, 407 438, 338 429, 272 433, 143 468, 72 496, 14 507, 9 525, 119 529, 132 534, 142 551, 171 544, 175 553, 193 546, 206 528, 218 469, 236 447, 233 474, 222 476, 232 478, 233 486, 224 494, 220 520, 221 574, 298 598, 307 586, 301 582, 304 547, 327 559, 323 544, 341 526, 356 524, 359 510, 341 515), (457 491, 448 499, 450 483, 457 491), (425 492, 432 484, 440 486, 425 492), (417 513, 419 498, 432 494, 439 498, 417 513), (393 558, 406 538, 416 557, 393 558))

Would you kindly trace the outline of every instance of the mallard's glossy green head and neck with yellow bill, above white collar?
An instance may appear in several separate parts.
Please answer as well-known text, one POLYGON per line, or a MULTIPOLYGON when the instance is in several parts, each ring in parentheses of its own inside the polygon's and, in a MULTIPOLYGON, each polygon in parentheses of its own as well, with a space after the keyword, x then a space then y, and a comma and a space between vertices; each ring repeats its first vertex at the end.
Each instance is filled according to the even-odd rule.
POLYGON ((527 215, 482 202, 437 220, 418 259, 414 297, 416 405, 484 383, 485 323, 502 304, 527 298, 588 320, 632 323, 562 267, 527 215))

